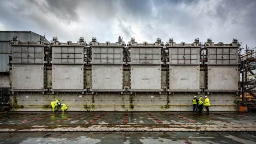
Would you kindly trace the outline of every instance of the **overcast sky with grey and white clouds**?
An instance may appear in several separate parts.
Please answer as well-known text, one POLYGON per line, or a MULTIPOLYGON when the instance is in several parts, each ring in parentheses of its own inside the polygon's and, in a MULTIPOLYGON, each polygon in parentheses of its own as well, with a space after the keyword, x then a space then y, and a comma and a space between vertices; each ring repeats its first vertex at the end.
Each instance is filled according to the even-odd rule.
POLYGON ((230 43, 255 47, 256 0, 0 0, 0 30, 33 31, 52 40, 230 43))

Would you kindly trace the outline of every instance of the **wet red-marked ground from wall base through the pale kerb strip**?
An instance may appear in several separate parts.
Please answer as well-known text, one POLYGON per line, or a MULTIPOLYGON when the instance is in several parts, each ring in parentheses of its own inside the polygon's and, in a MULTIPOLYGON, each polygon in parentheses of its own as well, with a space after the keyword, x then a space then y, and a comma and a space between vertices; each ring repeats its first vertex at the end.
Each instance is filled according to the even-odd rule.
POLYGON ((1 113, 0 132, 256 131, 254 113, 1 113))

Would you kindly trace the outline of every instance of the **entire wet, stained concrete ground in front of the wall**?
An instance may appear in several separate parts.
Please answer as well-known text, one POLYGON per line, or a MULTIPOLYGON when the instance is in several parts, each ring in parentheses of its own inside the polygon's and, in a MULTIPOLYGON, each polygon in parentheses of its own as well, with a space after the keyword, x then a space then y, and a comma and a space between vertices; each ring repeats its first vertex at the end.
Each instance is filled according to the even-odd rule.
POLYGON ((1 143, 256 143, 254 113, 0 113, 1 143))

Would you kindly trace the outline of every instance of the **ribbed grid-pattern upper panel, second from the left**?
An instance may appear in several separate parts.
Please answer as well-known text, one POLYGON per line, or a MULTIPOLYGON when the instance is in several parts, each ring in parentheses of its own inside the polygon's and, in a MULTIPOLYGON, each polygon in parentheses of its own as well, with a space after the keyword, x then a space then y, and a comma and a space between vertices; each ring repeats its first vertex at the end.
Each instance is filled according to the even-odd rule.
POLYGON ((85 46, 53 45, 53 64, 83 64, 85 46))

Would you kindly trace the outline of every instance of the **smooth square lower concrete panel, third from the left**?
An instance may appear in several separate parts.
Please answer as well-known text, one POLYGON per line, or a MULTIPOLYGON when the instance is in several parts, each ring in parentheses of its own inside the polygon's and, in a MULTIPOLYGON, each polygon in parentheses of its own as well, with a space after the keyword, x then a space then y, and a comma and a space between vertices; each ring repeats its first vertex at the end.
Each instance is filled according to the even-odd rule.
POLYGON ((93 65, 92 66, 93 91, 122 91, 123 66, 122 65, 93 65))

